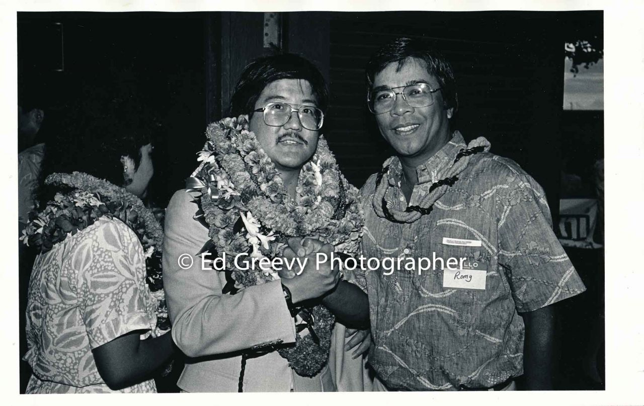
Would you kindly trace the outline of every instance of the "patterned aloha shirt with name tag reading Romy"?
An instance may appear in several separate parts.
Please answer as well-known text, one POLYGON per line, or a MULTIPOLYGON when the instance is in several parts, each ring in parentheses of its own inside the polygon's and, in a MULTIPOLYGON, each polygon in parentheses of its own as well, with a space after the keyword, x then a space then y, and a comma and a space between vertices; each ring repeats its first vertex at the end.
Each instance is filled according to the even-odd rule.
MULTIPOLYGON (((419 183, 410 205, 419 204, 431 184, 445 177, 461 148, 466 144, 455 132, 417 167, 419 183)), ((385 198, 404 209, 401 163, 393 157, 385 164, 395 174, 383 177, 392 186, 385 198)), ((517 312, 585 290, 552 231, 543 189, 512 160, 478 153, 430 214, 399 224, 375 214, 375 180, 372 175, 361 189, 362 255, 390 257, 395 265, 403 258, 393 273, 366 269, 355 282, 369 296, 375 343, 369 362, 379 379, 393 390, 459 390, 493 387, 522 374, 524 322, 517 312), (431 269, 421 275, 418 265, 406 270, 406 258, 416 264, 428 258, 431 269), (486 269, 485 289, 443 287, 448 258, 467 258, 463 264, 477 262, 478 269, 486 269)))

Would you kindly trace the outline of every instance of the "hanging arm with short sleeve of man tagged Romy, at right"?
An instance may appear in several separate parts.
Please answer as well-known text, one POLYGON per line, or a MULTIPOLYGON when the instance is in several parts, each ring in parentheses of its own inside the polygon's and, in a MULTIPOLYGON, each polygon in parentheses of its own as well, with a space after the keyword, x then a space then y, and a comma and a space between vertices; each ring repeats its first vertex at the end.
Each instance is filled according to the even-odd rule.
MULTIPOLYGON (((503 176, 498 176, 503 179, 503 176)), ((583 283, 551 227, 543 189, 519 175, 500 193, 506 215, 498 224, 499 271, 524 318, 524 372, 528 389, 551 389, 554 309, 552 304, 578 295, 583 283)))

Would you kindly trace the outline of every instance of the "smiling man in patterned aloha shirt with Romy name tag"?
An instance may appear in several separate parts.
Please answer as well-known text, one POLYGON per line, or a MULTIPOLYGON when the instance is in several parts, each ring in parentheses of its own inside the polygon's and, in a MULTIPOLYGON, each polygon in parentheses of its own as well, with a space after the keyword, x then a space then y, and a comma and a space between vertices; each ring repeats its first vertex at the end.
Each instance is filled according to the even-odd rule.
POLYGON ((552 304, 585 287, 543 189, 483 137, 450 129, 454 75, 426 44, 386 44, 366 77, 396 153, 361 189, 362 255, 393 264, 354 279, 370 304, 374 390, 510 390, 521 374, 550 389, 552 304))

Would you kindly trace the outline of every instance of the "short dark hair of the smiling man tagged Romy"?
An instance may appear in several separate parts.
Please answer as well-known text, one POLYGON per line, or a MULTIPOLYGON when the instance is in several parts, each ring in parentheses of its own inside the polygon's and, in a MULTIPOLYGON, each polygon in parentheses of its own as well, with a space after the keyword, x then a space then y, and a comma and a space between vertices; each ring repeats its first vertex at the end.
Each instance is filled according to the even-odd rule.
POLYGON ((366 64, 366 87, 371 91, 374 78, 390 63, 398 63, 397 71, 403 68, 408 58, 424 61, 427 72, 436 77, 440 84, 445 108, 459 108, 459 98, 456 92, 456 80, 451 64, 437 50, 417 39, 397 38, 382 46, 372 55, 366 64))

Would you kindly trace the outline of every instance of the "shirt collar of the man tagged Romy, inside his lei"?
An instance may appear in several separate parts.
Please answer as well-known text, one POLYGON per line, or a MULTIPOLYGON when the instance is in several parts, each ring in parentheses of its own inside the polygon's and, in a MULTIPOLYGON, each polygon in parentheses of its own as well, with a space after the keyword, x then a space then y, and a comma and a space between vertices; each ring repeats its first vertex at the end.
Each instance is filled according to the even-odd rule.
MULTIPOLYGON (((447 142, 440 150, 438 150, 430 159, 426 160, 423 164, 416 167, 416 175, 418 176, 418 184, 427 182, 437 182, 442 179, 442 172, 453 164, 454 159, 463 148, 467 148, 467 144, 459 131, 454 131, 451 140, 447 142)), ((390 173, 393 176, 389 177, 389 184, 392 186, 399 186, 401 182, 401 172, 403 166, 398 157, 391 157, 384 162, 383 166, 391 165, 390 173)))

